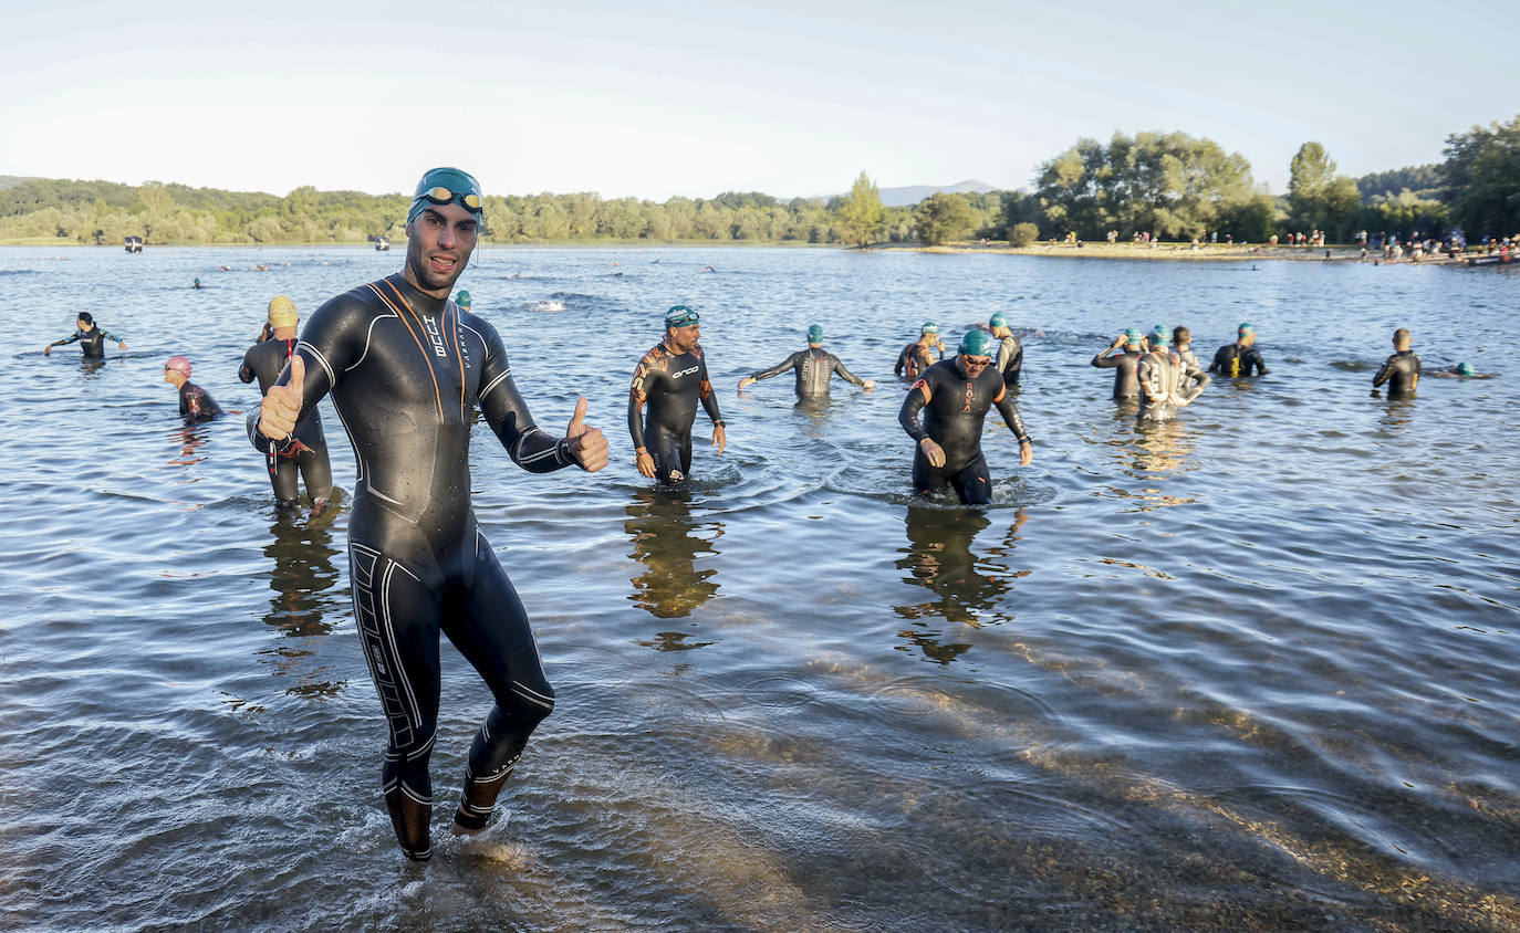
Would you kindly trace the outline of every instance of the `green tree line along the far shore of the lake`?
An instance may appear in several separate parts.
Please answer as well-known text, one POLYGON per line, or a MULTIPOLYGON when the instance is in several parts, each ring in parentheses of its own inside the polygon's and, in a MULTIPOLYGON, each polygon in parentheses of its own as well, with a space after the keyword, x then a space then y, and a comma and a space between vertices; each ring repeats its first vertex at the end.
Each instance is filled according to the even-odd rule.
MULTIPOLYGON (((594 193, 492 195, 485 242, 578 240, 938 245, 967 239, 1075 236, 1100 240, 1146 232, 1164 240, 1265 242, 1324 231, 1345 243, 1356 231, 1468 240, 1520 232, 1520 115, 1447 137, 1446 161, 1338 173, 1321 143, 1292 160, 1287 193, 1251 176, 1245 157, 1183 132, 1116 132, 1078 140, 1041 163, 1032 190, 936 193, 914 207, 883 207, 862 172, 850 193, 781 201, 758 191, 717 198, 603 199, 594 193)), ((120 243, 366 243, 400 239, 409 198, 299 187, 284 198, 149 181, 0 178, 0 240, 120 243)))

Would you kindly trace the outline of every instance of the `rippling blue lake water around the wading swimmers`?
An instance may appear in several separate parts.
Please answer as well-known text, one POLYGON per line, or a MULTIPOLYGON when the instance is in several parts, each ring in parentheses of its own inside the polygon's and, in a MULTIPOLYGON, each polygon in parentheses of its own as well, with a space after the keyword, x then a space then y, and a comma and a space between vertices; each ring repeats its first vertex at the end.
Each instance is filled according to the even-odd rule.
POLYGON ((482 251, 461 286, 540 424, 587 395, 613 463, 530 476, 476 432, 559 701, 461 843, 489 699, 444 649, 421 868, 380 801, 347 511, 277 514, 242 418, 182 429, 161 383, 185 354, 251 409, 269 298, 304 315, 401 258, 0 251, 5 925, 1520 927, 1515 272, 482 251), (730 436, 714 456, 699 418, 686 494, 634 471, 625 421, 675 302, 730 436), (129 351, 44 357, 78 310, 129 351), (996 504, 918 503, 895 354, 999 310, 1035 460, 994 418, 996 504), (1187 324, 1207 359, 1240 321, 1271 375, 1163 425, 1088 366, 1129 325, 1187 324), (874 392, 734 391, 813 322, 874 392), (1400 325, 1415 401, 1370 392, 1400 325), (1499 377, 1429 375, 1459 360, 1499 377))

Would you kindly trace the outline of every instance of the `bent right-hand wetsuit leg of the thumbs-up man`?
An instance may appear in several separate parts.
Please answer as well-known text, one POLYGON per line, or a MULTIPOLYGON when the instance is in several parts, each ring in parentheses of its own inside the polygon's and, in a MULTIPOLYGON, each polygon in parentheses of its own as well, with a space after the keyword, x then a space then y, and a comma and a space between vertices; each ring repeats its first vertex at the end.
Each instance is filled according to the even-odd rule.
POLYGON ((444 634, 496 697, 496 707, 470 746, 464 792, 454 813, 454 824, 473 831, 491 819, 496 798, 512 776, 527 737, 553 711, 555 691, 544 678, 523 602, 479 530, 474 582, 461 591, 458 603, 445 603, 444 620, 444 634))

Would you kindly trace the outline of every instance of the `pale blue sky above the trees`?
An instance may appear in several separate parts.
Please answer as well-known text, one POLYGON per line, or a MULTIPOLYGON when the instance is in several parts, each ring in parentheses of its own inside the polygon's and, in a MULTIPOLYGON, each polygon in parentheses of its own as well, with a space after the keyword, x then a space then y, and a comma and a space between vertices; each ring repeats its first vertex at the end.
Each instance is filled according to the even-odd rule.
POLYGON ((1439 161, 1520 114, 1497 5, 214 3, 5 14, 0 175, 284 195, 789 198, 1029 185, 1079 137, 1183 131, 1274 191, 1306 140, 1347 175, 1439 161))

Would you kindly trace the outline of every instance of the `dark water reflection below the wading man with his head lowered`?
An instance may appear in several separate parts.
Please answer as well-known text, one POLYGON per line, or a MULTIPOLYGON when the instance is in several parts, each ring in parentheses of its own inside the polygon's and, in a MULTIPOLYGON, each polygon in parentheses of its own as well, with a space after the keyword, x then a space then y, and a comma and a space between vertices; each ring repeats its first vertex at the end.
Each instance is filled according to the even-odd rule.
MULTIPOLYGON (((944 632, 933 628, 930 620, 979 626, 1012 618, 999 609, 999 602, 1008 593, 1009 580, 1023 576, 1023 571, 1008 570, 1006 561, 1012 555, 1018 527, 1026 520, 1024 511, 1018 509, 1002 546, 990 549, 988 559, 977 559, 971 544, 993 524, 986 512, 909 506, 907 547, 898 552, 903 556, 897 559, 897 567, 907 571, 904 582, 924 587, 935 599, 894 606, 900 617, 914 623, 914 628, 903 629, 898 637, 918 646, 930 659, 948 664, 971 646, 941 641, 944 632)), ((906 646, 898 649, 910 650, 906 646)))

